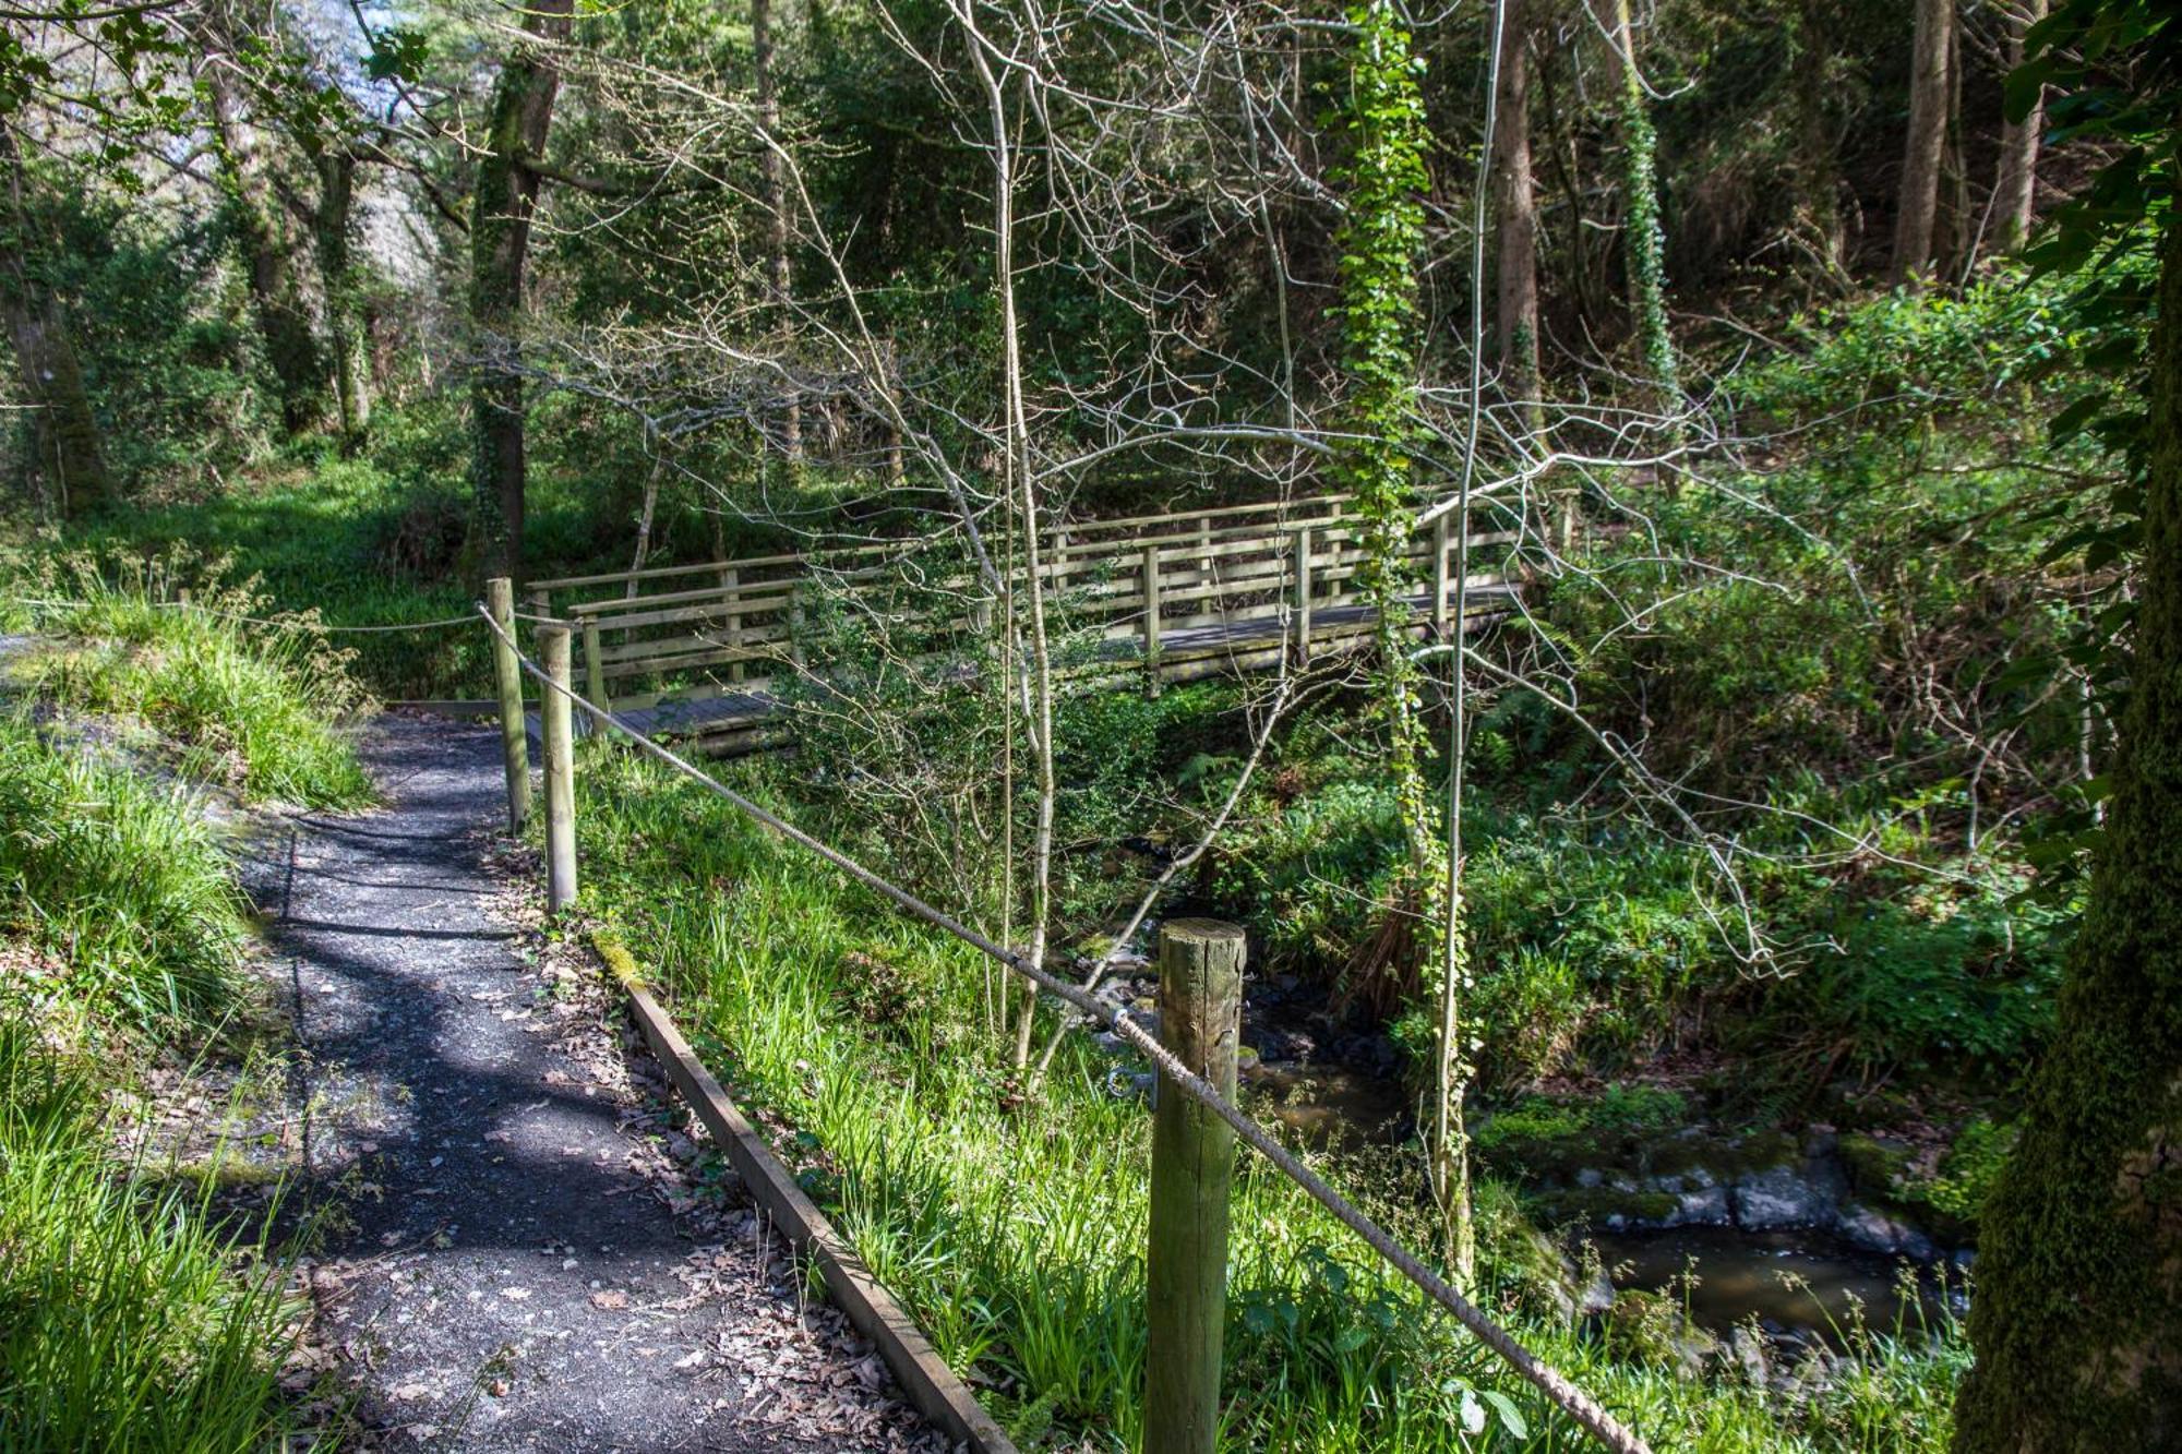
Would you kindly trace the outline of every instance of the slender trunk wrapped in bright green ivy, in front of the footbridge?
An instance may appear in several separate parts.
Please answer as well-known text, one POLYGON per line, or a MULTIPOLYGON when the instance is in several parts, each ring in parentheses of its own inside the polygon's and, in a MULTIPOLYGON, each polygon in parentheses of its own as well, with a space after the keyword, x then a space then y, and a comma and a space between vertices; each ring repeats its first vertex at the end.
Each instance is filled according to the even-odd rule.
MULTIPOLYGON (((1416 572, 1407 555, 1416 535, 1410 445, 1416 432, 1416 275, 1427 181, 1423 61, 1390 0, 1351 7, 1348 24, 1355 37, 1346 114, 1353 151, 1342 168, 1346 214, 1338 238, 1346 408, 1335 474, 1355 496, 1362 522, 1357 589, 1377 622, 1377 712, 1410 849, 1390 908, 1416 915, 1420 961, 1436 967, 1447 878, 1425 788, 1423 672, 1410 657, 1416 572)), ((1449 1262, 1458 1277, 1468 1279, 1475 1238, 1464 1175, 1460 1020, 1447 1013, 1455 985, 1436 989, 1442 993, 1442 1022, 1453 1028, 1438 1050, 1431 1190, 1447 1216, 1449 1262)))

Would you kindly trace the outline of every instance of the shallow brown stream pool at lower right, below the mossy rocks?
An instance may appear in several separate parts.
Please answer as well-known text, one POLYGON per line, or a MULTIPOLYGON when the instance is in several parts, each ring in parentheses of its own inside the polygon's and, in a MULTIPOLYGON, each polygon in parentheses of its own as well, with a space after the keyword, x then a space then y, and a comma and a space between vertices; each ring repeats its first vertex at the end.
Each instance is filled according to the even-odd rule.
POLYGON ((1844 1247, 1818 1231, 1685 1227, 1593 1236, 1617 1288, 1671 1290, 1700 1327, 1724 1334, 1757 1316, 1767 1332, 1802 1332, 1842 1345, 1861 1323, 1918 1336, 1944 1316, 1931 1271, 1844 1247), (1685 1292, 1685 1273, 1695 1273, 1685 1292))

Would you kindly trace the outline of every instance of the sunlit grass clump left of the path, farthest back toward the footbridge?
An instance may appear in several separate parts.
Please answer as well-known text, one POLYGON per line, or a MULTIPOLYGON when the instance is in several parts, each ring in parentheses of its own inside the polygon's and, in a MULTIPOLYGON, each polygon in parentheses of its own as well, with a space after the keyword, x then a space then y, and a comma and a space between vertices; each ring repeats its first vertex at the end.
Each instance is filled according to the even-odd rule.
POLYGON ((183 605, 188 565, 48 565, 31 596, 50 640, 20 672, 57 705, 142 720, 201 782, 305 808, 369 803, 371 779, 338 727, 364 701, 349 653, 314 616, 242 620, 264 620, 266 605, 251 583, 227 585, 218 563, 183 605))

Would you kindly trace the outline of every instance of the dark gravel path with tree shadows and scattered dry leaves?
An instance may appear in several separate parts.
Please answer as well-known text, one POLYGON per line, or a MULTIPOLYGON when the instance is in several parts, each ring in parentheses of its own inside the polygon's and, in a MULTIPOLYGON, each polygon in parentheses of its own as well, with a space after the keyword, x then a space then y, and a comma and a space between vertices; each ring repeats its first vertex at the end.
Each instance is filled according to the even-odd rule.
POLYGON ((292 817, 247 873, 321 1218, 303 1371, 349 1445, 945 1450, 740 1190, 690 1170, 589 967, 526 930, 497 734, 384 716, 364 751, 386 808, 292 817))

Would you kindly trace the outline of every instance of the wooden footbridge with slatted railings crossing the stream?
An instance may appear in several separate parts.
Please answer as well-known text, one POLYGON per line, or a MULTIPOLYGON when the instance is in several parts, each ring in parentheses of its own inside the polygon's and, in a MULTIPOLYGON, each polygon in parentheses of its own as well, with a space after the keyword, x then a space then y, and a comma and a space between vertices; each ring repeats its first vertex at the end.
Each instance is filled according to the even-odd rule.
MULTIPOLYGON (((1052 526, 1041 576, 1069 642, 1067 675, 1076 686, 1191 681, 1351 648, 1375 627, 1357 594, 1359 537, 1346 496, 1052 526)), ((1473 570, 1514 539, 1471 535, 1473 570)), ((1455 546, 1447 517, 1410 541, 1420 635, 1449 624, 1455 546)), ((1471 574, 1473 627, 1516 589, 1506 563, 1471 574)), ((827 672, 820 607, 862 598, 890 631, 927 642, 958 631, 964 646, 1002 609, 960 535, 537 581, 528 609, 580 637, 585 696, 650 736, 740 751, 766 740, 790 681, 827 672)))

